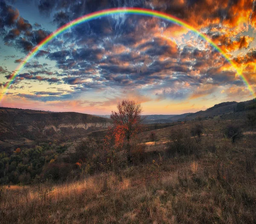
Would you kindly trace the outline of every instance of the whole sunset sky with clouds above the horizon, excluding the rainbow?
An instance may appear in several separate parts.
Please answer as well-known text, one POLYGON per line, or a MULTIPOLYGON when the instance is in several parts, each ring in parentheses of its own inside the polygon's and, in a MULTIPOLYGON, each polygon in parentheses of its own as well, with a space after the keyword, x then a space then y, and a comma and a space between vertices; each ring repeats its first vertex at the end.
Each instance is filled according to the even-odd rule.
POLYGON ((198 34, 131 14, 69 28, 26 63, 3 96, 19 63, 49 34, 116 7, 183 20, 217 44, 256 92, 254 0, 0 0, 0 106, 104 115, 133 99, 144 114, 182 114, 253 99, 233 66, 198 34))

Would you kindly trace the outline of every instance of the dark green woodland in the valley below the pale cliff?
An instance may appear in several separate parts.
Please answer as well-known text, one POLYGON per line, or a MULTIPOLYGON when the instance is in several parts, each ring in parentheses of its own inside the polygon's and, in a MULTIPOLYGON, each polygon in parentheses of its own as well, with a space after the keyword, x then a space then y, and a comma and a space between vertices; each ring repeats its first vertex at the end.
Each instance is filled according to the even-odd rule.
MULTIPOLYGON (((33 148, 17 148, 11 156, 7 153, 0 153, 0 184, 30 184, 32 180, 41 176, 49 178, 50 170, 57 172, 53 163, 58 156, 64 153, 67 146, 56 144, 42 144, 33 148)), ((63 170, 62 170, 63 171, 63 170)), ((52 176, 54 179, 56 176, 52 176)))

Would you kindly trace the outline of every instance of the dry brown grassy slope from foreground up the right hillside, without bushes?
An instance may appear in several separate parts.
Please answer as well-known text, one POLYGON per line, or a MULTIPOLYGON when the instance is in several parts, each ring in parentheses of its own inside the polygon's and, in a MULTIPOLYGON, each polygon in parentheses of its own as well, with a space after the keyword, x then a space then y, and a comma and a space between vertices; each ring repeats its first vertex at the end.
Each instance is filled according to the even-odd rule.
POLYGON ((0 223, 256 223, 256 134, 244 126, 232 143, 223 134, 232 122, 203 121, 191 155, 165 150, 172 132, 199 121, 154 130, 155 142, 141 133, 154 156, 139 165, 62 184, 1 187, 0 223))

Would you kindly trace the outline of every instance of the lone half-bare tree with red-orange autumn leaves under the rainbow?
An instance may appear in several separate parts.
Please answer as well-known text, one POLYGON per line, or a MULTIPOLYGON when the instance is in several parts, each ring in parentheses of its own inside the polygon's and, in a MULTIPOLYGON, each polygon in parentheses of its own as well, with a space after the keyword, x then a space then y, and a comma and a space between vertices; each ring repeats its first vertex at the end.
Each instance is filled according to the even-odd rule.
POLYGON ((141 116, 141 104, 134 100, 123 100, 116 108, 118 111, 112 111, 110 116, 115 126, 115 138, 120 144, 126 140, 127 161, 131 162, 131 139, 139 132, 146 116, 141 116))

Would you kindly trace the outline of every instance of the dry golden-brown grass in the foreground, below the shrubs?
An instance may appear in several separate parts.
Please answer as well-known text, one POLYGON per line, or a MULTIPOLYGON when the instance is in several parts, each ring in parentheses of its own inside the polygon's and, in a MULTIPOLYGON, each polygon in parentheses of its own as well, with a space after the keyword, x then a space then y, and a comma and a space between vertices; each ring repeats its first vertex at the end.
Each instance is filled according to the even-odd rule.
POLYGON ((254 174, 223 155, 170 159, 73 183, 3 190, 0 223, 254 223, 254 174), (221 169, 222 169, 221 168, 221 169))

